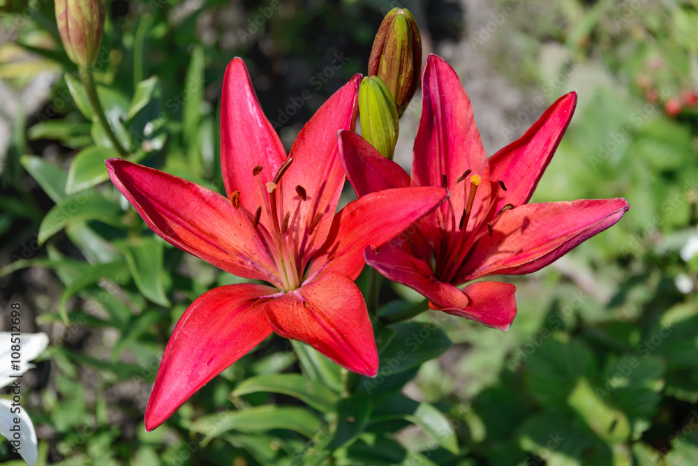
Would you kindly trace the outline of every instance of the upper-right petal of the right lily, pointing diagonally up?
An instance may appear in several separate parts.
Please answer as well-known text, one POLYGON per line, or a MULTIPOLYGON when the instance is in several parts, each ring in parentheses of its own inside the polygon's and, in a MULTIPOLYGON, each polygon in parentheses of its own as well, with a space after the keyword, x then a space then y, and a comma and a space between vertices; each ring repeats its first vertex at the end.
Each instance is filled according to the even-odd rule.
POLYGON ((489 159, 490 179, 504 181, 497 209, 507 203, 520 206, 533 195, 545 168, 570 124, 577 92, 560 97, 519 140, 512 142, 489 159))

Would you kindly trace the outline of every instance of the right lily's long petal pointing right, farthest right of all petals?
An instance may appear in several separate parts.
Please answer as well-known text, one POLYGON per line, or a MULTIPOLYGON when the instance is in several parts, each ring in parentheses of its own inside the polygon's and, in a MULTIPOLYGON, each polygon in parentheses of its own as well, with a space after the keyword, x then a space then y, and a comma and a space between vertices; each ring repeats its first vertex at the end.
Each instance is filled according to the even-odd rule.
POLYGON ((630 209, 622 197, 526 204, 505 211, 483 236, 459 271, 457 283, 493 274, 523 275, 558 257, 621 220, 630 209))

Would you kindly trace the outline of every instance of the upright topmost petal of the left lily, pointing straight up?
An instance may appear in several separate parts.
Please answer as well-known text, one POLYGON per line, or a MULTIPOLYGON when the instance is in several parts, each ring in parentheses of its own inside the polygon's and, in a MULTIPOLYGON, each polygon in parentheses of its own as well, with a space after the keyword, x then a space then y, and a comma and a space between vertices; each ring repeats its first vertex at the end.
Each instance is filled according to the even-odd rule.
MULTIPOLYGON (((267 194, 252 176, 254 167, 263 167, 262 186, 272 181, 286 152, 274 128, 264 116, 245 62, 235 58, 228 63, 221 94, 221 170, 228 197, 240 192, 240 204, 250 212, 264 206, 267 194)), ((262 209, 262 225, 269 226, 262 209)))

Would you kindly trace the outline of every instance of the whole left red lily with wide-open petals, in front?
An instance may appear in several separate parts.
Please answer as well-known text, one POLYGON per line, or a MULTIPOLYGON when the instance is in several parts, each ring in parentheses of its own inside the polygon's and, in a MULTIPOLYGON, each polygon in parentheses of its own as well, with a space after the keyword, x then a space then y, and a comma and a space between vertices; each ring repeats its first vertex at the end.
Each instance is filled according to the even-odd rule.
POLYGON ((165 348, 145 425, 152 430, 272 331, 364 375, 378 371, 366 304, 353 280, 364 249, 433 211, 442 188, 385 190, 334 215, 345 174, 337 132, 353 130, 360 75, 327 100, 286 157, 242 59, 225 71, 221 165, 228 198, 185 179, 107 160, 114 185, 174 246, 269 285, 215 288, 182 315, 165 348))

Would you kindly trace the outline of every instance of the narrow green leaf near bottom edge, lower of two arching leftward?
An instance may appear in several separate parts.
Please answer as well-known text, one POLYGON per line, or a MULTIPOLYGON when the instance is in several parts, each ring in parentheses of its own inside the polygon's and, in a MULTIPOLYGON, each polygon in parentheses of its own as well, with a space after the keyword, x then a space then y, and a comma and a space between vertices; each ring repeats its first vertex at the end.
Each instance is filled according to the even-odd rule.
POLYGON ((190 430, 206 437, 202 446, 228 430, 272 430, 289 429, 311 438, 320 428, 321 422, 309 409, 295 406, 263 405, 244 411, 228 411, 210 414, 196 419, 190 430))

